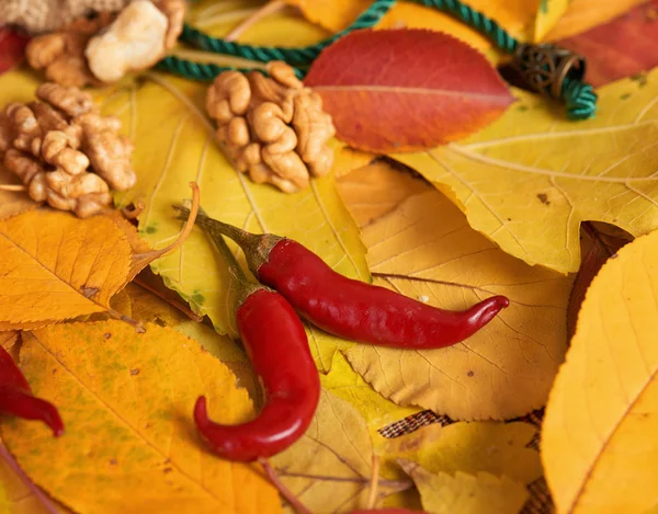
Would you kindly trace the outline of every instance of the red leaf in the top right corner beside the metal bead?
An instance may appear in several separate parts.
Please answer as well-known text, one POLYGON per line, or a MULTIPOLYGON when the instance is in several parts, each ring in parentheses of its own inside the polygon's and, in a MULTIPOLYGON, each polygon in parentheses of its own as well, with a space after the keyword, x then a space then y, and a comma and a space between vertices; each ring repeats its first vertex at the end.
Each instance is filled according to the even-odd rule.
POLYGON ((658 66, 657 35, 658 0, 651 0, 557 44, 587 58, 587 81, 599 87, 658 66))

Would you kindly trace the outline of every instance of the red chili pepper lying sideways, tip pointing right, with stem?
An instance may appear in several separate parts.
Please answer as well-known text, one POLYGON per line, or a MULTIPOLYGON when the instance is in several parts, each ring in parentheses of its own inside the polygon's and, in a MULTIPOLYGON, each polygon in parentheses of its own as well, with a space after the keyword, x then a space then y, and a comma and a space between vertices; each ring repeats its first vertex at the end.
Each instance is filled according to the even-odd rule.
MULTIPOLYGON (((184 219, 186 209, 175 208, 184 219)), ((340 275, 291 239, 246 232, 203 215, 196 224, 235 240, 259 281, 281 293, 304 318, 352 341, 413 350, 450 346, 473 335, 510 302, 494 296, 464 311, 439 309, 340 275)))

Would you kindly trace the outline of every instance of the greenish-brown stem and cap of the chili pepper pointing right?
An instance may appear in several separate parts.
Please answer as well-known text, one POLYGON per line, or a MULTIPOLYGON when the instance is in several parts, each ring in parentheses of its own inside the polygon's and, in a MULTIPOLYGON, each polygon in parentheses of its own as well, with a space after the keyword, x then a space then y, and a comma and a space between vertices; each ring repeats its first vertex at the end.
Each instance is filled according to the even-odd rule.
MULTIPOLYGON (((179 219, 186 220, 190 217, 190 209, 184 205, 174 205, 173 208, 178 210, 179 219)), ((214 241, 220 238, 220 236, 226 236, 238 243, 242 251, 249 254, 247 264, 251 273, 257 276, 258 269, 268 262, 268 256, 272 248, 284 239, 272 233, 256 235, 247 232, 218 219, 209 218, 201 208, 194 222, 206 230, 214 241)))

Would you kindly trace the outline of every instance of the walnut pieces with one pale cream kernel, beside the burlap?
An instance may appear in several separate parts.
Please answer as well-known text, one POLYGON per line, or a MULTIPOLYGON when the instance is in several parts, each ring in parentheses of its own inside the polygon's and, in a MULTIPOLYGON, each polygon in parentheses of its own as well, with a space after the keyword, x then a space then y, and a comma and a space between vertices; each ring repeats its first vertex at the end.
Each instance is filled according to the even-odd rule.
POLYGON ((118 13, 82 16, 34 37, 25 56, 30 66, 61 85, 114 82, 154 66, 175 45, 185 9, 185 0, 134 0, 118 13))

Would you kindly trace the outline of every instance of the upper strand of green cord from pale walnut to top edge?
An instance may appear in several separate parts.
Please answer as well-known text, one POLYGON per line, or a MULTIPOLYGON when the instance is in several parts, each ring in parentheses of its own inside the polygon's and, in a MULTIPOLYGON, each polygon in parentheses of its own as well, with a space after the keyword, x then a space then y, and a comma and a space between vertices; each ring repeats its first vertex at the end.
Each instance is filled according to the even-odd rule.
POLYGON ((344 31, 324 39, 315 45, 303 48, 286 48, 277 46, 251 46, 242 45, 230 41, 224 41, 208 36, 201 31, 185 24, 180 39, 197 48, 216 54, 226 54, 236 57, 242 57, 249 60, 269 62, 271 60, 283 60, 288 65, 299 66, 311 64, 320 53, 340 37, 358 28, 371 27, 388 12, 396 0, 375 0, 372 5, 364 11, 358 19, 344 31))

